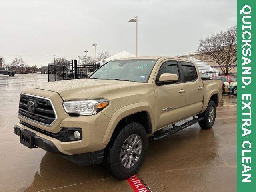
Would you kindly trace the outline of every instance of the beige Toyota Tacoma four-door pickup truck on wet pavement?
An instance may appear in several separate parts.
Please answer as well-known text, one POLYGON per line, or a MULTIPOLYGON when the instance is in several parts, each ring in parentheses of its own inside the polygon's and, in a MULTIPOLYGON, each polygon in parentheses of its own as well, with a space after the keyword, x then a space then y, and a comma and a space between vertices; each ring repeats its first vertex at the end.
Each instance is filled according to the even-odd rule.
POLYGON ((124 58, 87 79, 24 89, 14 132, 29 148, 79 165, 104 162, 113 176, 124 179, 142 165, 148 137, 158 140, 197 122, 212 128, 221 100, 221 81, 201 78, 190 60, 124 58))

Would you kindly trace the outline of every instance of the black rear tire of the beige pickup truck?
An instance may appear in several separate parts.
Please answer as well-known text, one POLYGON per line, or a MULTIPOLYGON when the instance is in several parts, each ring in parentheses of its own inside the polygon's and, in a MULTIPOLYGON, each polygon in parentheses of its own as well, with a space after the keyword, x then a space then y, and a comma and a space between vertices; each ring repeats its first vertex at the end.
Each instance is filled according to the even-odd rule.
POLYGON ((210 129, 214 125, 215 118, 216 118, 216 104, 214 101, 210 101, 206 111, 202 114, 204 116, 204 120, 199 122, 199 125, 202 129, 210 129), (210 115, 212 115, 212 109, 213 109, 213 116, 212 121, 210 120, 210 115))

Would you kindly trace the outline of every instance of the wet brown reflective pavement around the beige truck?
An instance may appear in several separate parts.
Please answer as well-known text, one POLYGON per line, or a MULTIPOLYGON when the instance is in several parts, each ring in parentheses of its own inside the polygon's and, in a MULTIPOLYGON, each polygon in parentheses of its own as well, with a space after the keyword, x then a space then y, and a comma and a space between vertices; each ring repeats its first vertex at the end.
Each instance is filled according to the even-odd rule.
MULTIPOLYGON (((28 149, 13 132, 20 92, 47 74, 0 75, 0 191, 132 191, 103 166, 77 166, 40 148, 28 149)), ((214 127, 190 126, 149 140, 138 176, 153 192, 236 191, 236 97, 224 96, 214 127)))

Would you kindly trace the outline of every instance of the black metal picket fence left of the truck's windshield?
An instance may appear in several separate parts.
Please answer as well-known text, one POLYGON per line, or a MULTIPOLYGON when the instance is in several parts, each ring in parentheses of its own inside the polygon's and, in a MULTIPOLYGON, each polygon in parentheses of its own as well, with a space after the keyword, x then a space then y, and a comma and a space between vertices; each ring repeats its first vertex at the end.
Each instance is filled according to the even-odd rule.
POLYGON ((77 60, 48 63, 48 82, 87 78, 100 64, 77 63, 77 60))

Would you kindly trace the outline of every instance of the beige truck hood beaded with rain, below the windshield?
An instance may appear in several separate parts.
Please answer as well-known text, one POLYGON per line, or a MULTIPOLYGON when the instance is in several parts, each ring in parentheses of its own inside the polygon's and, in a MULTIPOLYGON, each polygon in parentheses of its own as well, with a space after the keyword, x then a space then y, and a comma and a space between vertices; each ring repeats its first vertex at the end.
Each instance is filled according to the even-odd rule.
POLYGON ((29 89, 36 88, 57 92, 64 101, 67 101, 88 99, 92 95, 98 97, 99 93, 101 98, 105 98, 104 93, 114 92, 114 90, 119 88, 126 89, 139 84, 145 83, 102 79, 74 79, 44 83, 35 87, 29 87, 29 89))

